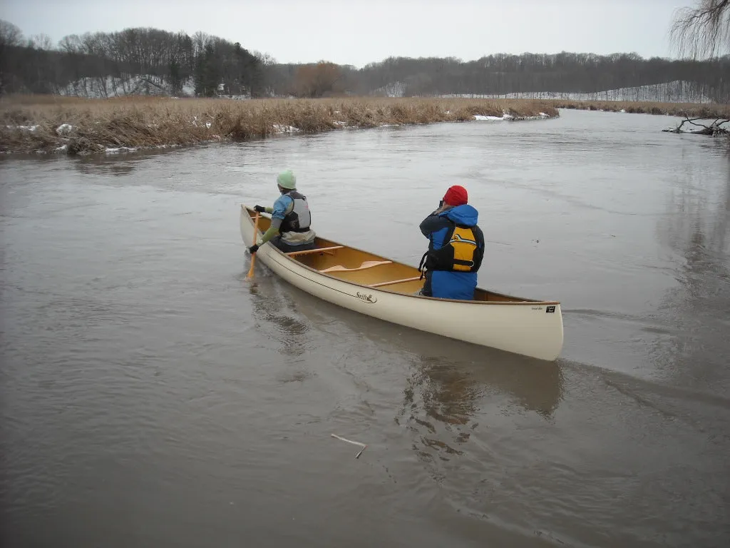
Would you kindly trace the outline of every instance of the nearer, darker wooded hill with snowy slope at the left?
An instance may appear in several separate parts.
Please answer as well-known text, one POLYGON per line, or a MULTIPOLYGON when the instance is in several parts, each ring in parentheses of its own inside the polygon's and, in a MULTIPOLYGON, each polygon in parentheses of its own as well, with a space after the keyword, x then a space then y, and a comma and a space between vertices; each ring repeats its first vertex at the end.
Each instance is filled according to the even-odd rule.
POLYGON ((264 61, 239 42, 203 32, 191 37, 156 28, 126 28, 72 34, 52 48, 47 37, 25 39, 18 27, 0 22, 0 92, 6 94, 59 93, 81 82, 108 96, 116 94, 110 87, 117 82, 144 76, 172 94, 183 94, 183 85, 192 82, 199 96, 255 96, 263 90, 264 61))

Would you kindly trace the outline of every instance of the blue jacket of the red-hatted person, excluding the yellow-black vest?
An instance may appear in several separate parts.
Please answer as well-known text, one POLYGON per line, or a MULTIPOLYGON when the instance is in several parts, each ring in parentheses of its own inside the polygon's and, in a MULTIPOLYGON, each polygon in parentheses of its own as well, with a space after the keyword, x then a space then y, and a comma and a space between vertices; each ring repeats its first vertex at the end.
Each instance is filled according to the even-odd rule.
MULTIPOLYGON (((420 232, 429 238, 429 250, 440 249, 449 232, 453 221, 466 227, 472 227, 480 243, 484 248, 484 237, 482 231, 477 227, 479 212, 471 205, 457 205, 442 213, 431 213, 423 219, 420 224, 420 232)), ((446 242, 447 243, 447 242, 446 242)), ((447 270, 433 270, 431 276, 431 297, 442 299, 472 300, 474 290, 477 286, 476 272, 453 272, 447 270)))

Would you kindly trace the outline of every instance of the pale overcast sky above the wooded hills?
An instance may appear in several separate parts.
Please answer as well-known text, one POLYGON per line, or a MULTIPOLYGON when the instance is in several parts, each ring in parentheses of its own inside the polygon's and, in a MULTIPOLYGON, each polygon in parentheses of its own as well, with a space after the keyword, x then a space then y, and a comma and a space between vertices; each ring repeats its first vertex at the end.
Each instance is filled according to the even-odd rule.
POLYGON ((0 0, 23 34, 151 26, 208 34, 279 62, 363 66, 389 56, 623 53, 676 57, 675 9, 696 0, 0 0))

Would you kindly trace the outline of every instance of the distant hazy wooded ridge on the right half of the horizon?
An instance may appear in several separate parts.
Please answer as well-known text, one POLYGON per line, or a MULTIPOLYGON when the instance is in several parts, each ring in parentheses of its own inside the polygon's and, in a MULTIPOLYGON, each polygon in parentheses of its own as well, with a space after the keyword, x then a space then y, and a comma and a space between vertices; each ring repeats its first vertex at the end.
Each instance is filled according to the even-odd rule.
POLYGON ((645 59, 635 53, 599 56, 496 54, 477 61, 456 58, 388 58, 358 71, 358 91, 404 96, 505 95, 537 91, 594 93, 684 80, 718 102, 730 100, 730 56, 712 61, 645 59), (390 90, 388 87, 390 86, 390 90))

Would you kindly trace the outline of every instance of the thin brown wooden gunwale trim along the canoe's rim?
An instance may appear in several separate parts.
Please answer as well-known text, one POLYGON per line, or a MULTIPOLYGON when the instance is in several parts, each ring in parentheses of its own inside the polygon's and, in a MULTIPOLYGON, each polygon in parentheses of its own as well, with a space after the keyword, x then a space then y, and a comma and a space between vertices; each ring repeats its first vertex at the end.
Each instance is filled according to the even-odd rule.
MULTIPOLYGON (((251 224, 251 228, 253 228, 253 219, 251 218, 250 213, 253 213, 254 210, 251 209, 251 208, 248 208, 246 205, 243 205, 243 204, 241 205, 241 209, 242 209, 242 211, 245 211, 246 213, 248 213, 248 215, 246 217, 248 218, 248 220, 249 220, 249 222, 251 224)), ((267 217, 267 218, 270 218, 270 217, 267 217)), ((332 241, 332 240, 327 240, 327 241, 332 241)), ((363 254, 374 255, 373 253, 371 253, 369 251, 364 251, 362 249, 355 248, 353 246, 344 246, 344 245, 339 244, 339 243, 337 243, 337 248, 349 248, 349 249, 352 249, 353 251, 358 251, 358 252, 363 253, 363 254)), ((323 248, 323 250, 324 249, 326 249, 326 248, 323 248)), ((514 295, 507 295, 507 294, 503 294, 503 293, 494 292, 494 291, 491 291, 489 289, 483 289, 481 287, 477 287, 477 289, 480 289, 481 291, 483 291, 485 293, 492 294, 492 295, 495 295, 497 297, 504 297, 504 298, 513 299, 513 300, 510 300, 510 301, 499 301, 499 300, 496 300, 496 301, 488 301, 488 300, 458 300, 458 299, 445 299, 445 298, 441 298, 441 297, 427 297, 426 295, 416 295, 416 294, 409 294, 409 293, 401 293, 401 292, 396 292, 396 291, 392 291, 392 290, 389 290, 389 289, 381 289, 378 286, 369 286, 369 285, 367 285, 365 283, 356 283, 356 282, 351 281, 351 280, 346 280, 346 279, 343 279, 343 278, 337 278, 337 276, 333 276, 333 275, 329 275, 328 273, 320 272, 316 268, 312 268, 312 267, 310 267, 308 265, 304 265, 304 263, 302 263, 302 262, 297 261, 293 256, 289 256, 288 254, 286 254, 285 252, 281 251, 279 248, 277 248, 276 246, 273 246, 273 245, 270 246, 270 251, 273 252, 273 254, 269 255, 269 258, 272 259, 272 260, 276 260, 276 259, 274 259, 274 257, 277 257, 278 258, 280 256, 280 257, 283 257, 284 259, 286 259, 286 262, 288 262, 288 263, 294 263, 294 264, 296 264, 297 267, 304 268, 305 270, 308 270, 310 273, 312 273, 314 275, 322 276, 324 278, 328 278, 330 280, 337 281, 337 282, 340 282, 340 283, 346 283, 347 285, 350 285, 350 286, 353 286, 353 287, 357 287, 357 288, 360 288, 360 289, 367 289, 369 291, 387 292, 389 294, 397 294, 397 295, 401 295, 403 297, 412 297, 412 298, 415 298, 415 299, 428 299, 428 300, 433 300, 433 301, 437 301, 437 302, 458 302, 460 304, 470 304, 470 305, 513 305, 513 306, 514 305, 518 305, 518 306, 560 305, 560 301, 555 301, 555 300, 525 299, 523 297, 515 297, 514 295)), ((305 251, 301 251, 301 252, 294 251, 293 253, 294 254, 304 254, 304 253, 314 254, 314 253, 316 253, 319 250, 308 250, 308 251, 310 251, 310 252, 307 253, 305 251)), ((380 255, 377 255, 377 256, 379 256, 383 260, 390 261, 392 264, 401 265, 401 266, 408 267, 408 268, 414 268, 411 265, 406 265, 404 263, 401 263, 399 261, 390 259, 390 258, 385 257, 385 256, 380 256, 380 255)), ((276 260, 276 262, 281 267, 285 267, 291 273, 298 274, 294 270, 291 270, 291 268, 286 267, 286 265, 285 265, 284 262, 281 262, 280 260, 276 260)), ((310 281, 315 282, 315 283, 318 283, 315 280, 310 280, 310 281)), ((396 280, 394 282, 397 283, 397 282, 399 282, 399 280, 396 280)), ((395 285, 395 283, 393 283, 393 285, 395 285)), ((331 288, 331 286, 328 286, 328 287, 329 287, 329 289, 334 289, 334 288, 331 288)), ((384 286, 384 287, 387 287, 387 286, 384 286)))

